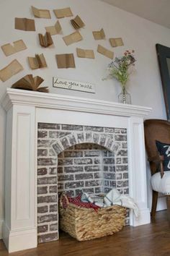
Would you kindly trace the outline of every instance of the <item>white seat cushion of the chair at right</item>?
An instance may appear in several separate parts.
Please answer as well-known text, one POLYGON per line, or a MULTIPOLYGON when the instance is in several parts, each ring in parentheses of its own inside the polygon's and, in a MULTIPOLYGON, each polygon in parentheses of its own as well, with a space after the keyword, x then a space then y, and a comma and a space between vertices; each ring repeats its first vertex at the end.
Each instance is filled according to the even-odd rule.
POLYGON ((170 171, 165 171, 162 179, 161 179, 160 172, 153 174, 153 176, 151 176, 151 186, 153 190, 169 195, 170 194, 170 171))

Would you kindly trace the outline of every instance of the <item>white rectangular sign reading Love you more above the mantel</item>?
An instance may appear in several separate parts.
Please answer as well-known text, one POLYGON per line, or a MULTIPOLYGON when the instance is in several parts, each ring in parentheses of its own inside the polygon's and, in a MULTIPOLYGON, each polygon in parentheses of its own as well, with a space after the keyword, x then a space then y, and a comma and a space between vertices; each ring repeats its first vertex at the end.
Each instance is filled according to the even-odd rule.
POLYGON ((53 87, 68 90, 81 90, 86 93, 95 93, 95 86, 89 82, 77 82, 59 77, 53 77, 53 87))

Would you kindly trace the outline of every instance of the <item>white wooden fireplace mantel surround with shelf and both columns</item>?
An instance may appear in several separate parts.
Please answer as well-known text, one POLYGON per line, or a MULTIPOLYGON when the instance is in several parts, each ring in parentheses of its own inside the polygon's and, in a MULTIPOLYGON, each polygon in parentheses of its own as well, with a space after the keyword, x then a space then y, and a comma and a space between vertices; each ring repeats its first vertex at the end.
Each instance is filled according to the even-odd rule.
POLYGON ((3 239, 9 252, 37 247, 37 123, 126 128, 130 196, 140 217, 130 225, 150 223, 147 203, 143 119, 151 108, 109 101, 7 88, 5 218, 3 239))

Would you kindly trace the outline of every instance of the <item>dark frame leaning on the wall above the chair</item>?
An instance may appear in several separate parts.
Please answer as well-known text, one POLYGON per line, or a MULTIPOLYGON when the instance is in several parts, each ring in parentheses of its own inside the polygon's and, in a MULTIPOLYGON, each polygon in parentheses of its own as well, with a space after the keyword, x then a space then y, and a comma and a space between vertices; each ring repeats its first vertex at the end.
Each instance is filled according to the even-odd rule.
POLYGON ((170 48, 156 43, 156 52, 161 73, 161 82, 166 106, 166 116, 170 121, 170 48))

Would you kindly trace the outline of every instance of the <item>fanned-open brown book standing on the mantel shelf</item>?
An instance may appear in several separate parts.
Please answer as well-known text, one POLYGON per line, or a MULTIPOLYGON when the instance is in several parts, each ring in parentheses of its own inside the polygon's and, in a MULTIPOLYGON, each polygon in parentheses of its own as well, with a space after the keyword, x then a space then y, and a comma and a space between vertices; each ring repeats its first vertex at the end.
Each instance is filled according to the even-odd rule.
POLYGON ((27 74, 12 85, 12 88, 23 90, 35 90, 42 93, 48 93, 48 87, 40 87, 44 80, 42 77, 33 77, 32 74, 27 74))

